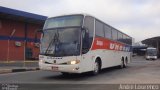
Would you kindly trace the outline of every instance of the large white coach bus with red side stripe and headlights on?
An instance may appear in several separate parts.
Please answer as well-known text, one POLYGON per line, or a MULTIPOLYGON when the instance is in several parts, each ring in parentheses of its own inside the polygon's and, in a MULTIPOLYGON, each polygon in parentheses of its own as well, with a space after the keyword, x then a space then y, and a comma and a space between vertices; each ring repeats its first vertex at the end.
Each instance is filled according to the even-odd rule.
POLYGON ((54 72, 98 74, 131 60, 132 38, 87 14, 48 18, 41 36, 39 67, 54 72))

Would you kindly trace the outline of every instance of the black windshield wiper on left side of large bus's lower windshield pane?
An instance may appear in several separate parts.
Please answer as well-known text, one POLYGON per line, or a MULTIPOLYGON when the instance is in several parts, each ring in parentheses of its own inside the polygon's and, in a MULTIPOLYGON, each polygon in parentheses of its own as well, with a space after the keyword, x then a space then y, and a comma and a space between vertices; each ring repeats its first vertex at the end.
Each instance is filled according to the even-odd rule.
MULTIPOLYGON (((52 40, 51 40, 51 42, 49 43, 49 45, 48 45, 48 47, 47 47, 47 49, 46 49, 46 51, 45 51, 45 55, 48 55, 48 51, 52 51, 52 50, 49 50, 49 48, 51 47, 51 45, 53 44, 53 43, 56 43, 56 42, 59 42, 59 33, 57 32, 57 33, 55 33, 55 35, 54 35, 54 37, 52 38, 52 40)), ((56 49, 56 44, 55 44, 55 47, 54 47, 54 53, 55 53, 55 50, 56 49)))

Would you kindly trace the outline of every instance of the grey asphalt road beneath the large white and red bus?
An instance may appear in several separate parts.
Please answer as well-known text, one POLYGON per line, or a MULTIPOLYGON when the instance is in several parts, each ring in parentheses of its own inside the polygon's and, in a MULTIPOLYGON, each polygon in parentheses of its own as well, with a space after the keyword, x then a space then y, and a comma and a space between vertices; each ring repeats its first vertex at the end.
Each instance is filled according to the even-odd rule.
POLYGON ((96 76, 88 73, 63 76, 59 72, 28 71, 0 75, 1 83, 30 84, 160 84, 160 60, 147 61, 134 57, 125 69, 102 70, 96 76))

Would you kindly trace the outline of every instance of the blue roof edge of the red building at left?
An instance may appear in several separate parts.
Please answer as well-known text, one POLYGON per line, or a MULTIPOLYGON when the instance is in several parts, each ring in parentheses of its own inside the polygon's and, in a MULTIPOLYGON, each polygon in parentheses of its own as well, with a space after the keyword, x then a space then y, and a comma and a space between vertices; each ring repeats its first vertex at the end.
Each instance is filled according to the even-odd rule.
POLYGON ((0 6, 0 18, 7 18, 30 23, 44 23, 44 21, 47 19, 47 16, 0 6))

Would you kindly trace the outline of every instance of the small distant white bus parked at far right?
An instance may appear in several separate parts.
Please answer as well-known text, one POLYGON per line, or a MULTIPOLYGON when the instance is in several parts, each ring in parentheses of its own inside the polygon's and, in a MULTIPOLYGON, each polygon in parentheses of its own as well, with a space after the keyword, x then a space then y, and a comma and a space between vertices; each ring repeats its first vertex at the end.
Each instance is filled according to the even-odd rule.
POLYGON ((156 60, 158 55, 158 51, 156 48, 148 47, 146 49, 146 60, 156 60))

